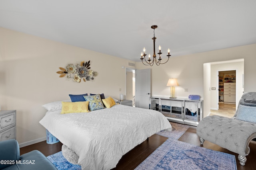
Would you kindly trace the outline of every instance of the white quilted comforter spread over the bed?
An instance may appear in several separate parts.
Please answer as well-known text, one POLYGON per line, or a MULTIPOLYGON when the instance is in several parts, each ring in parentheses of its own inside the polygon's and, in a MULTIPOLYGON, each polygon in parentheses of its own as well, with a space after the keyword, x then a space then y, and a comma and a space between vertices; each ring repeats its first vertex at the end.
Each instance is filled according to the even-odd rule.
POLYGON ((40 120, 52 135, 79 156, 82 170, 109 170, 151 135, 171 129, 162 113, 124 105, 89 113, 48 111, 40 120))

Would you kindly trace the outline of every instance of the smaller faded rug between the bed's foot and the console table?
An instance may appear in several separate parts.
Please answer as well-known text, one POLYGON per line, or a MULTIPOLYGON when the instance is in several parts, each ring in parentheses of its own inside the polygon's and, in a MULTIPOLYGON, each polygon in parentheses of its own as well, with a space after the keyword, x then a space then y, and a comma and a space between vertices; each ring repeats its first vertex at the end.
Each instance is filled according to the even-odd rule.
POLYGON ((183 135, 186 132, 186 130, 189 128, 189 125, 183 125, 183 124, 174 123, 174 122, 170 122, 170 123, 172 125, 172 131, 163 130, 156 134, 164 137, 168 137, 171 139, 179 139, 181 135, 183 135))

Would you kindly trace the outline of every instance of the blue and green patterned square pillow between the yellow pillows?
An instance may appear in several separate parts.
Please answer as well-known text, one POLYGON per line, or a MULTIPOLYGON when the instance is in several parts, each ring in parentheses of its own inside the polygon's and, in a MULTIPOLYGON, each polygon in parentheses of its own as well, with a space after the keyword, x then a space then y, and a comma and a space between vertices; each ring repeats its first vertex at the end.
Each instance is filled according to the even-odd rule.
POLYGON ((100 98, 100 94, 96 94, 93 96, 84 96, 85 101, 89 102, 89 110, 98 110, 98 109, 103 109, 103 103, 100 98))

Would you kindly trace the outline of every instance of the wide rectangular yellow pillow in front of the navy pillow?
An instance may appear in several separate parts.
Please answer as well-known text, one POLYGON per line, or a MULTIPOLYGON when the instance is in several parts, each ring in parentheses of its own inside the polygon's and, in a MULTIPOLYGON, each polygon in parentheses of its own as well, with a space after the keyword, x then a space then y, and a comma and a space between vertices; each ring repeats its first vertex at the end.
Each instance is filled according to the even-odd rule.
POLYGON ((80 113, 80 112, 89 112, 88 104, 89 102, 61 102, 62 109, 61 114, 65 113, 80 113))

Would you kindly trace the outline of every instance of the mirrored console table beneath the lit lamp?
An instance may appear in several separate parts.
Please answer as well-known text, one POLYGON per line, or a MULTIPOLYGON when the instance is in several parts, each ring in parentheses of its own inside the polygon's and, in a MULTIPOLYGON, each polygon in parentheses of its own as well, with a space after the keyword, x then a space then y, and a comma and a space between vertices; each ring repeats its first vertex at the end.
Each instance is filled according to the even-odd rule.
POLYGON ((203 116, 203 100, 150 97, 150 109, 160 111, 169 121, 197 126, 203 116))

